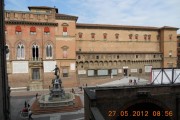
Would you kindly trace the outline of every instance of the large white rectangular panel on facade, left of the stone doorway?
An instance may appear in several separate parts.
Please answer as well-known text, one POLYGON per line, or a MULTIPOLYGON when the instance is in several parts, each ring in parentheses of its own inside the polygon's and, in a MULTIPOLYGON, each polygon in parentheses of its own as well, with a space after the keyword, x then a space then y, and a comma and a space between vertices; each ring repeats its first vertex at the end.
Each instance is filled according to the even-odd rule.
POLYGON ((28 73, 28 61, 13 61, 12 69, 13 73, 28 73))

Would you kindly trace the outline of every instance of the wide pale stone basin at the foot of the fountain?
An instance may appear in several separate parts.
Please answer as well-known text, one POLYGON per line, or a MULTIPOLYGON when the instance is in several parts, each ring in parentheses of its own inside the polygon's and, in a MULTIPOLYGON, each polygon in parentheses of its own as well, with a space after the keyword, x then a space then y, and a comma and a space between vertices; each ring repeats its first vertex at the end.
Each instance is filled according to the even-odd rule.
POLYGON ((74 94, 65 93, 65 97, 53 97, 50 99, 49 94, 41 95, 39 98, 40 107, 60 107, 60 106, 72 106, 74 105, 74 94))

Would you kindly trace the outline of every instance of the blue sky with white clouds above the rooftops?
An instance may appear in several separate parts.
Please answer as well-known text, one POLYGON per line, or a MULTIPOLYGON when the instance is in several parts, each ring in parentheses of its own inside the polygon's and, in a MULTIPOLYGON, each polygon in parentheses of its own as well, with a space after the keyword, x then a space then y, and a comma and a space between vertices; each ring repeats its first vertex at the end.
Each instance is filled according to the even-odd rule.
MULTIPOLYGON (((78 23, 180 28, 180 0, 4 0, 6 10, 56 7, 78 23)), ((180 34, 180 30, 178 30, 180 34)))

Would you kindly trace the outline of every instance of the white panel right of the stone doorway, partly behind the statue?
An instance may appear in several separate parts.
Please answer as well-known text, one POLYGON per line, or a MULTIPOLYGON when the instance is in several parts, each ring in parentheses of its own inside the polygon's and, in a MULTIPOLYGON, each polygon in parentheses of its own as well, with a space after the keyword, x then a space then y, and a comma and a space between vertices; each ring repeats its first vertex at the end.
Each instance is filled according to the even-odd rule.
POLYGON ((53 72, 56 64, 56 61, 43 61, 44 72, 53 72))

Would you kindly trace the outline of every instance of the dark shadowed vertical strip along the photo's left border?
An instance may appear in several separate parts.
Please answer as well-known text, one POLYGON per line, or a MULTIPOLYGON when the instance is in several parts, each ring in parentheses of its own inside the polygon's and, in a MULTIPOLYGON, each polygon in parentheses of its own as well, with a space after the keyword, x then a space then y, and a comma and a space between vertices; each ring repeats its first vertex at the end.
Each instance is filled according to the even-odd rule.
POLYGON ((4 33, 4 0, 0 0, 0 118, 10 120, 10 90, 6 70, 6 44, 4 33))

